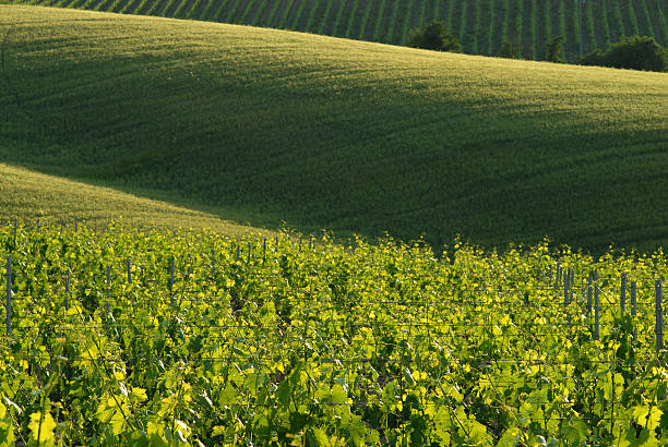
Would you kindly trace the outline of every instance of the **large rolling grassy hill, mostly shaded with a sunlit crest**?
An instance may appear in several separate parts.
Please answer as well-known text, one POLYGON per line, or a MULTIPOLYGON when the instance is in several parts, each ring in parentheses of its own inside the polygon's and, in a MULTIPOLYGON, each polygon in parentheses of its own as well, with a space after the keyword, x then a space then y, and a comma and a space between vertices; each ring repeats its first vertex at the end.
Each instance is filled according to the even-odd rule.
POLYGON ((14 164, 307 231, 668 241, 666 74, 35 7, 0 26, 14 164))

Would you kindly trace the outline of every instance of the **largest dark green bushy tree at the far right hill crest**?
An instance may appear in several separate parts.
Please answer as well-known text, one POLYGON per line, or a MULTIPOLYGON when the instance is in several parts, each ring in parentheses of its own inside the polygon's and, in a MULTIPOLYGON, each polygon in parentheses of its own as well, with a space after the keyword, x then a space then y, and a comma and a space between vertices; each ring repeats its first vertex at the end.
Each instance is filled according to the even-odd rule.
POLYGON ((624 37, 606 52, 591 52, 580 63, 665 72, 668 71, 668 51, 652 37, 632 36, 624 37))

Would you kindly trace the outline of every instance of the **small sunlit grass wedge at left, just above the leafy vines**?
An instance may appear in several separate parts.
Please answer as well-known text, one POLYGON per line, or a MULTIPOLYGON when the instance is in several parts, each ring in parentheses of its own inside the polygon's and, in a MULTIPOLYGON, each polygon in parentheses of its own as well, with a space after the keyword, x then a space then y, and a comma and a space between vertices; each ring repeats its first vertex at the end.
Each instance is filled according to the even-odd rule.
POLYGON ((72 226, 76 218, 100 228, 116 220, 141 229, 210 228, 230 237, 267 233, 212 214, 4 164, 0 164, 0 209, 3 220, 17 218, 26 225, 39 219, 72 226))

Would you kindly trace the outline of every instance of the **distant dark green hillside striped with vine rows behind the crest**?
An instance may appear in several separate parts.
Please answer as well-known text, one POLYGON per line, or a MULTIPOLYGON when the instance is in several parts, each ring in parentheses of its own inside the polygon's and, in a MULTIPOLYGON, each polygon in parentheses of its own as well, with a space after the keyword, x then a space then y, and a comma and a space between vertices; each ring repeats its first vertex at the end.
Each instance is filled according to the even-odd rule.
POLYGON ((544 60, 546 43, 565 37, 566 56, 607 49, 623 36, 668 46, 666 0, 19 0, 51 7, 250 24, 361 40, 405 44, 409 29, 438 20, 464 51, 493 56, 504 39, 526 59, 544 60))

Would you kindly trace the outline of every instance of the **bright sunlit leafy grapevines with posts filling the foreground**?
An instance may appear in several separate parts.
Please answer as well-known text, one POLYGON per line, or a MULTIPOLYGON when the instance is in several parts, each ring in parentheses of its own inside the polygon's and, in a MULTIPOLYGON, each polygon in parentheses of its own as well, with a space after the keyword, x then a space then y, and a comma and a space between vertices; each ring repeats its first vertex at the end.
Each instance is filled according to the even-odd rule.
POLYGON ((0 443, 658 445, 663 253, 0 230, 0 443))

